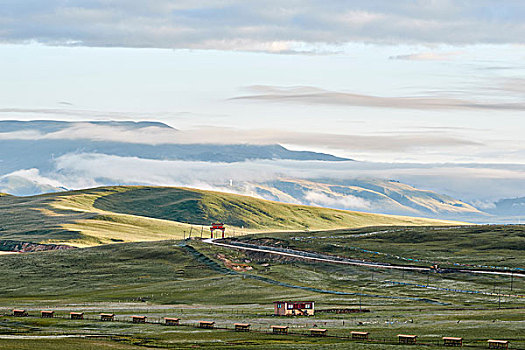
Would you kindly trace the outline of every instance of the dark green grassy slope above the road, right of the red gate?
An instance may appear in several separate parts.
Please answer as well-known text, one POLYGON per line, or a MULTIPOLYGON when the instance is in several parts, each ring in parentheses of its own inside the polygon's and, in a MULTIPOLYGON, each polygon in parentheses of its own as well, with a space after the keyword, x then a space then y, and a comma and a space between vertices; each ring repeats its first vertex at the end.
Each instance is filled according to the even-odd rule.
POLYGON ((523 225, 367 227, 262 233, 239 240, 254 244, 270 242, 287 248, 406 265, 439 263, 454 266, 454 263, 461 263, 525 267, 523 225))

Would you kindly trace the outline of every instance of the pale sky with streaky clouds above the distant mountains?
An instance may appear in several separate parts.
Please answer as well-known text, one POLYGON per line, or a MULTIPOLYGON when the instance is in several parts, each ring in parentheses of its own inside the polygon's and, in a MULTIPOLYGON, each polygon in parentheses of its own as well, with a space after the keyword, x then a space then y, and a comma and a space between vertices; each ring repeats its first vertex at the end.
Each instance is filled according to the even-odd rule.
POLYGON ((489 178, 525 164, 523 1, 0 3, 0 120, 161 121, 170 142, 489 178))

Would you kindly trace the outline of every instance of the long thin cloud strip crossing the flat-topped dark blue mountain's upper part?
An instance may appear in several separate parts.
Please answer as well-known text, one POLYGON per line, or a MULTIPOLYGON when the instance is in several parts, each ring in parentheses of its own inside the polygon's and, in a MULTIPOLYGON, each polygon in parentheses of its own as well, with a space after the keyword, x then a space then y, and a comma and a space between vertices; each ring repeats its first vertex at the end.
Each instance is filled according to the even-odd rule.
POLYGON ((201 127, 177 130, 169 127, 147 126, 129 128, 94 123, 70 123, 58 131, 42 132, 25 129, 0 132, 0 140, 90 140, 113 141, 146 145, 162 144, 293 144, 306 147, 325 147, 354 151, 407 151, 418 148, 450 148, 479 146, 481 143, 454 137, 447 133, 419 132, 388 135, 352 135, 315 132, 295 132, 279 129, 236 129, 201 127))

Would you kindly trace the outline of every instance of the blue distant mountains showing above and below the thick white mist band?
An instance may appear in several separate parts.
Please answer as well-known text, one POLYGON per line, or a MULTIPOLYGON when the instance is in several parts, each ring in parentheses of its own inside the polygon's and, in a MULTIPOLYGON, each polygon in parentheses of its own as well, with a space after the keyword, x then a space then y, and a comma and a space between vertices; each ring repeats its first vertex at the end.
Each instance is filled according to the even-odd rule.
MULTIPOLYGON (((177 136, 177 129, 158 122, 0 121, 0 192, 34 195, 68 190, 60 185, 39 181, 38 175, 53 174, 57 171, 56 159, 72 153, 223 163, 254 159, 351 161, 330 154, 291 151, 281 145, 178 144, 177 136), (126 134, 126 137, 122 137, 124 141, 112 139, 119 132, 131 136, 126 134), (157 133, 164 135, 165 141, 167 135, 167 141, 152 144, 133 137, 155 137, 157 133), (106 139, 106 136, 109 138, 106 139), (27 176, 32 171, 37 176, 27 176)), ((116 183, 111 179, 103 179, 98 183, 137 184, 125 181, 116 183)), ((225 187, 224 183, 207 185, 225 187)), ((228 191, 285 203, 474 222, 504 222, 500 219, 521 216, 525 209, 525 198, 500 200, 492 207, 489 205, 480 210, 450 196, 414 188, 395 180, 375 178, 282 178, 264 182, 236 182, 228 191)))

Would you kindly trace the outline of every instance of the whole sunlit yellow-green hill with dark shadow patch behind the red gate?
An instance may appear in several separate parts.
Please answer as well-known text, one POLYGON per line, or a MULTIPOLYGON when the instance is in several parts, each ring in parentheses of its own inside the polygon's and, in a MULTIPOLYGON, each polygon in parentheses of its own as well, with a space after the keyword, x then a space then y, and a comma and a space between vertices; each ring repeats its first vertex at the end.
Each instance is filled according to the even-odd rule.
MULTIPOLYGON (((94 246, 178 239, 222 221, 229 232, 454 222, 299 206, 189 188, 114 186, 0 199, 0 241, 94 246)), ((454 223, 457 224, 457 223, 454 223)))

